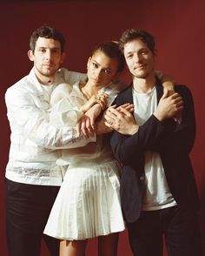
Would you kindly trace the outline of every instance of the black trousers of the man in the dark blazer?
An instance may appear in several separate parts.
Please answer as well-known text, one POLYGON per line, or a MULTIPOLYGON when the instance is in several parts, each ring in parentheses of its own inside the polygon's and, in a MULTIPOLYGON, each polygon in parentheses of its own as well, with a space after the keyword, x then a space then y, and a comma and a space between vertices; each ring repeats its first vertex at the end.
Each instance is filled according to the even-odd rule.
POLYGON ((145 211, 129 223, 129 244, 136 256, 162 256, 163 235, 169 256, 202 256, 196 212, 178 205, 145 211))

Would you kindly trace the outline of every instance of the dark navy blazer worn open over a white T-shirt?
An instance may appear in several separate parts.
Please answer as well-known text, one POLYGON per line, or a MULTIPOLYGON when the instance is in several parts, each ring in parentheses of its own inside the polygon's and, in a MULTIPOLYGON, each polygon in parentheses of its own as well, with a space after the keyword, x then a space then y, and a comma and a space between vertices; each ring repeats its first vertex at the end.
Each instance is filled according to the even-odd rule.
MULTIPOLYGON (((122 163, 121 199, 124 218, 134 222, 139 218, 144 186, 145 151, 158 152, 170 192, 178 205, 193 210, 199 206, 192 165, 188 157, 195 142, 195 110, 193 98, 185 85, 175 85, 175 91, 183 98, 182 123, 173 118, 160 122, 154 115, 139 127, 132 136, 114 131, 111 147, 122 163)), ((162 97, 162 84, 156 85, 157 100, 162 97)), ((133 104, 132 84, 116 98, 115 104, 133 104)))

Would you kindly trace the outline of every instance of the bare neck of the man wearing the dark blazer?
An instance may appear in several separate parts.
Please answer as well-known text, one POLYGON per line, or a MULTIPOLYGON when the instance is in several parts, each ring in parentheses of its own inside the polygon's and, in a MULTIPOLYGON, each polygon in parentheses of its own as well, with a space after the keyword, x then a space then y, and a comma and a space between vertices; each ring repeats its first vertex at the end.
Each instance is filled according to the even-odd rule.
POLYGON ((151 91, 155 87, 155 73, 145 78, 134 77, 133 87, 139 93, 151 91))

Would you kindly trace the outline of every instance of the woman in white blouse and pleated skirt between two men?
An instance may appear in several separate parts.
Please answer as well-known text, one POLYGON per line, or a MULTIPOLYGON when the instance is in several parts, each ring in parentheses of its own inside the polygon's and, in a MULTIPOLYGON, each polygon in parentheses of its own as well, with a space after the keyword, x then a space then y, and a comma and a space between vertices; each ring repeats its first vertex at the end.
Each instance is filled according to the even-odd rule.
MULTIPOLYGON (((62 84, 53 92, 56 96, 51 97, 50 121, 76 125, 83 118, 78 131, 95 133, 94 120, 116 97, 110 84, 123 67, 117 43, 99 44, 89 57, 87 83, 72 87, 62 84)), ((124 230, 121 167, 113 157, 109 139, 97 135, 96 142, 63 151, 57 165, 66 166, 67 171, 44 233, 61 239, 61 256, 84 255, 88 239, 94 237, 98 237, 99 255, 116 255, 118 233, 124 230)))

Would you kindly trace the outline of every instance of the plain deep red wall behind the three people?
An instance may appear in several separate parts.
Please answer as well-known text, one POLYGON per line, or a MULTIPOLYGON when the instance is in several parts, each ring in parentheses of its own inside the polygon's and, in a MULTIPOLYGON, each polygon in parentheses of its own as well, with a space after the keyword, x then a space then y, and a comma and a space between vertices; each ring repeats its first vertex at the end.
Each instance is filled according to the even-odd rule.
MULTIPOLYGON (((30 33, 41 24, 62 30, 67 39, 65 66, 85 71, 93 46, 106 39, 118 39, 127 28, 139 27, 155 35, 157 69, 169 73, 193 92, 197 134, 191 158, 195 169, 202 209, 200 226, 205 247, 205 3, 201 0, 144 1, 8 1, 0 3, 0 254, 7 256, 3 202, 4 169, 8 159, 10 128, 6 118, 4 92, 31 68, 27 57, 30 33), (86 2, 86 3, 84 3, 86 2)), ((89 244, 89 255, 96 255, 96 241, 89 244)), ((119 255, 131 255, 126 232, 122 233, 119 255)), ((205 249, 204 249, 205 254, 205 249)), ((43 246, 43 256, 48 253, 43 246)))

